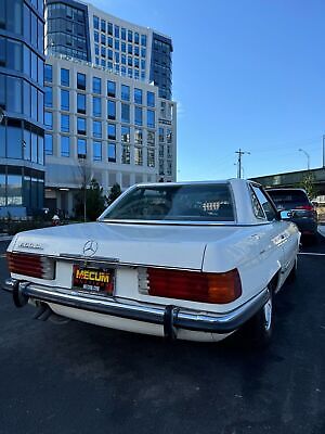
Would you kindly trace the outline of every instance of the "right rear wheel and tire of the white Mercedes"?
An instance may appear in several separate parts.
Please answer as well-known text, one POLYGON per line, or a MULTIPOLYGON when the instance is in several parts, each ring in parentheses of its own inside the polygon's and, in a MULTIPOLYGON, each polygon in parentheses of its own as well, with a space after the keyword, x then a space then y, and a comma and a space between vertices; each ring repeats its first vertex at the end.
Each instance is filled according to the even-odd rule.
POLYGON ((271 342, 273 332, 273 297, 270 298, 262 308, 243 327, 245 343, 253 348, 263 348, 271 342))

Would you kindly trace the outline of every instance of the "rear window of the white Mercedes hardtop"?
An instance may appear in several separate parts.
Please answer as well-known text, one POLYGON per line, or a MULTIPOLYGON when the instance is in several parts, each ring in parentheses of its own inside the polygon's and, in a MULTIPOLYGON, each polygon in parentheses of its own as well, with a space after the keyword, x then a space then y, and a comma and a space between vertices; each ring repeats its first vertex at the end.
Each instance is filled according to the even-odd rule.
POLYGON ((139 186, 105 219, 233 221, 229 184, 139 186))

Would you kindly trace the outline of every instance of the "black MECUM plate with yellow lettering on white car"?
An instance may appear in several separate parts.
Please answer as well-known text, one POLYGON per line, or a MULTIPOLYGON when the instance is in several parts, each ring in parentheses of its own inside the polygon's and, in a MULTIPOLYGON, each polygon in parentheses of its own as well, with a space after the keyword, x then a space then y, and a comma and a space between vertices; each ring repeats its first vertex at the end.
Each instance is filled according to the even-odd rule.
POLYGON ((115 270, 112 268, 74 265, 73 290, 91 294, 113 295, 115 270))

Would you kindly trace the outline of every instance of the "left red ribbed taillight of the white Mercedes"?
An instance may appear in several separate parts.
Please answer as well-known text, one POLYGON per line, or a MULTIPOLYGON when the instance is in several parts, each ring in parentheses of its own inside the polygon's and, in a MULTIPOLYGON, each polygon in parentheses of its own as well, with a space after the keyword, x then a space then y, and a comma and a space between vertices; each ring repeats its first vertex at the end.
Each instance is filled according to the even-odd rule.
POLYGON ((54 279, 54 260, 40 255, 8 253, 10 272, 38 279, 54 279))

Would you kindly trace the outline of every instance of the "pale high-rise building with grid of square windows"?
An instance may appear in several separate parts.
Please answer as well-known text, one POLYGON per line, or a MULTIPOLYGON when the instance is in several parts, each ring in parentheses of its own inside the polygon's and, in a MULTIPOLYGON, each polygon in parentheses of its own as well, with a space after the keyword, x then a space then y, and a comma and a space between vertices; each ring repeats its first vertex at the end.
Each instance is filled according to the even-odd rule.
POLYGON ((108 193, 176 180, 170 38, 72 0, 46 7, 46 203, 72 215, 94 178, 108 193))

